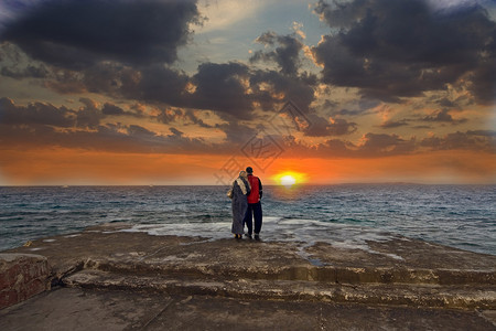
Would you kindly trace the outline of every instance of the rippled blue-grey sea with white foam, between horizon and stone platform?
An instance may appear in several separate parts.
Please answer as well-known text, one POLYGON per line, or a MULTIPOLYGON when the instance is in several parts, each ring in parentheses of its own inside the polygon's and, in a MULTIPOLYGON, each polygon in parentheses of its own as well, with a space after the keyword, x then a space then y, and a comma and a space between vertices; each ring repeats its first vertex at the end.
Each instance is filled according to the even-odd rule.
MULTIPOLYGON (((0 250, 126 222, 151 235, 229 238, 225 186, 3 186, 0 250)), ((366 249, 395 236, 496 255, 496 185, 265 186, 263 241, 366 249)))

